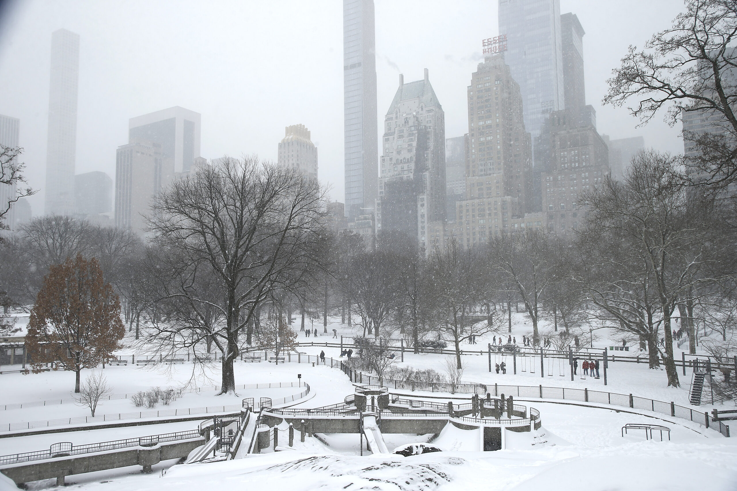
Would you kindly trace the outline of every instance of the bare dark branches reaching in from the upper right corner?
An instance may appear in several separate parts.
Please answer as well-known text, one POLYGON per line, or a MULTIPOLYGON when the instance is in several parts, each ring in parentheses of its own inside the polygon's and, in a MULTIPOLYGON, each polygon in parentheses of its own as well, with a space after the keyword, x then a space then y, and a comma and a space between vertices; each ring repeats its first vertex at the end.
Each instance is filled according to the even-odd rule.
POLYGON ((644 50, 630 46, 613 71, 605 104, 621 107, 643 124, 660 109, 674 125, 683 113, 700 113, 717 131, 683 136, 699 150, 689 161, 695 174, 722 187, 737 177, 737 4, 733 0, 687 0, 672 26, 657 32, 644 50))

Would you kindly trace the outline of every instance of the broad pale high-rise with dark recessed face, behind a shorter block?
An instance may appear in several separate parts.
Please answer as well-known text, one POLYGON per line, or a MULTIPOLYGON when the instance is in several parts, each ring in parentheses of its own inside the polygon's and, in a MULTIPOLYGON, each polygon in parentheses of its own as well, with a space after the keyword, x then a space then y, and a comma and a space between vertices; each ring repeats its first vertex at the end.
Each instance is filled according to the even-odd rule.
POLYGON ((200 156, 200 113, 184 107, 170 107, 128 121, 128 143, 161 145, 172 159, 172 172, 188 172, 200 156))

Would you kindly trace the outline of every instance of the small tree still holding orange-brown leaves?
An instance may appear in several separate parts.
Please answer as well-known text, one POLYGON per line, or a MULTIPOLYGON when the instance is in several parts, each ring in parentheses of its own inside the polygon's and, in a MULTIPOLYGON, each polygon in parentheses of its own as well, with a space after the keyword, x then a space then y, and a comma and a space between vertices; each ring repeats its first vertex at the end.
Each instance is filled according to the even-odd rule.
POLYGON ((55 363, 76 373, 74 392, 80 392, 80 372, 110 358, 125 335, 120 301, 105 283, 97 259, 78 254, 51 266, 43 278, 31 310, 26 350, 32 367, 55 363))

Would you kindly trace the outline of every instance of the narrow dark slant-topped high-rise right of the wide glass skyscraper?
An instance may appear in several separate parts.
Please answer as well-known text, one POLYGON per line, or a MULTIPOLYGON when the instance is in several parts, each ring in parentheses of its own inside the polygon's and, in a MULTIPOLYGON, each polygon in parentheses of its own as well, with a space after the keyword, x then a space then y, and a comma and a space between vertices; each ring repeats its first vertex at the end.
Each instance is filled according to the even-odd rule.
POLYGON ((586 105, 584 84, 584 42, 586 32, 574 13, 560 16, 563 49, 563 93, 566 109, 586 105))

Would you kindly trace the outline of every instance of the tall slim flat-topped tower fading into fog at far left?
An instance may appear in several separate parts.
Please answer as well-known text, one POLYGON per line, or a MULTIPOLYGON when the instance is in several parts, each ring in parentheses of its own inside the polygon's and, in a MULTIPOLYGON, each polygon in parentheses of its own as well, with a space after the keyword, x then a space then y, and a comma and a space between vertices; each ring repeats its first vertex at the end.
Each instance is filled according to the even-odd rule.
POLYGON ((80 36, 66 29, 52 33, 49 133, 46 146, 44 211, 74 213, 74 160, 77 151, 77 84, 80 36))

